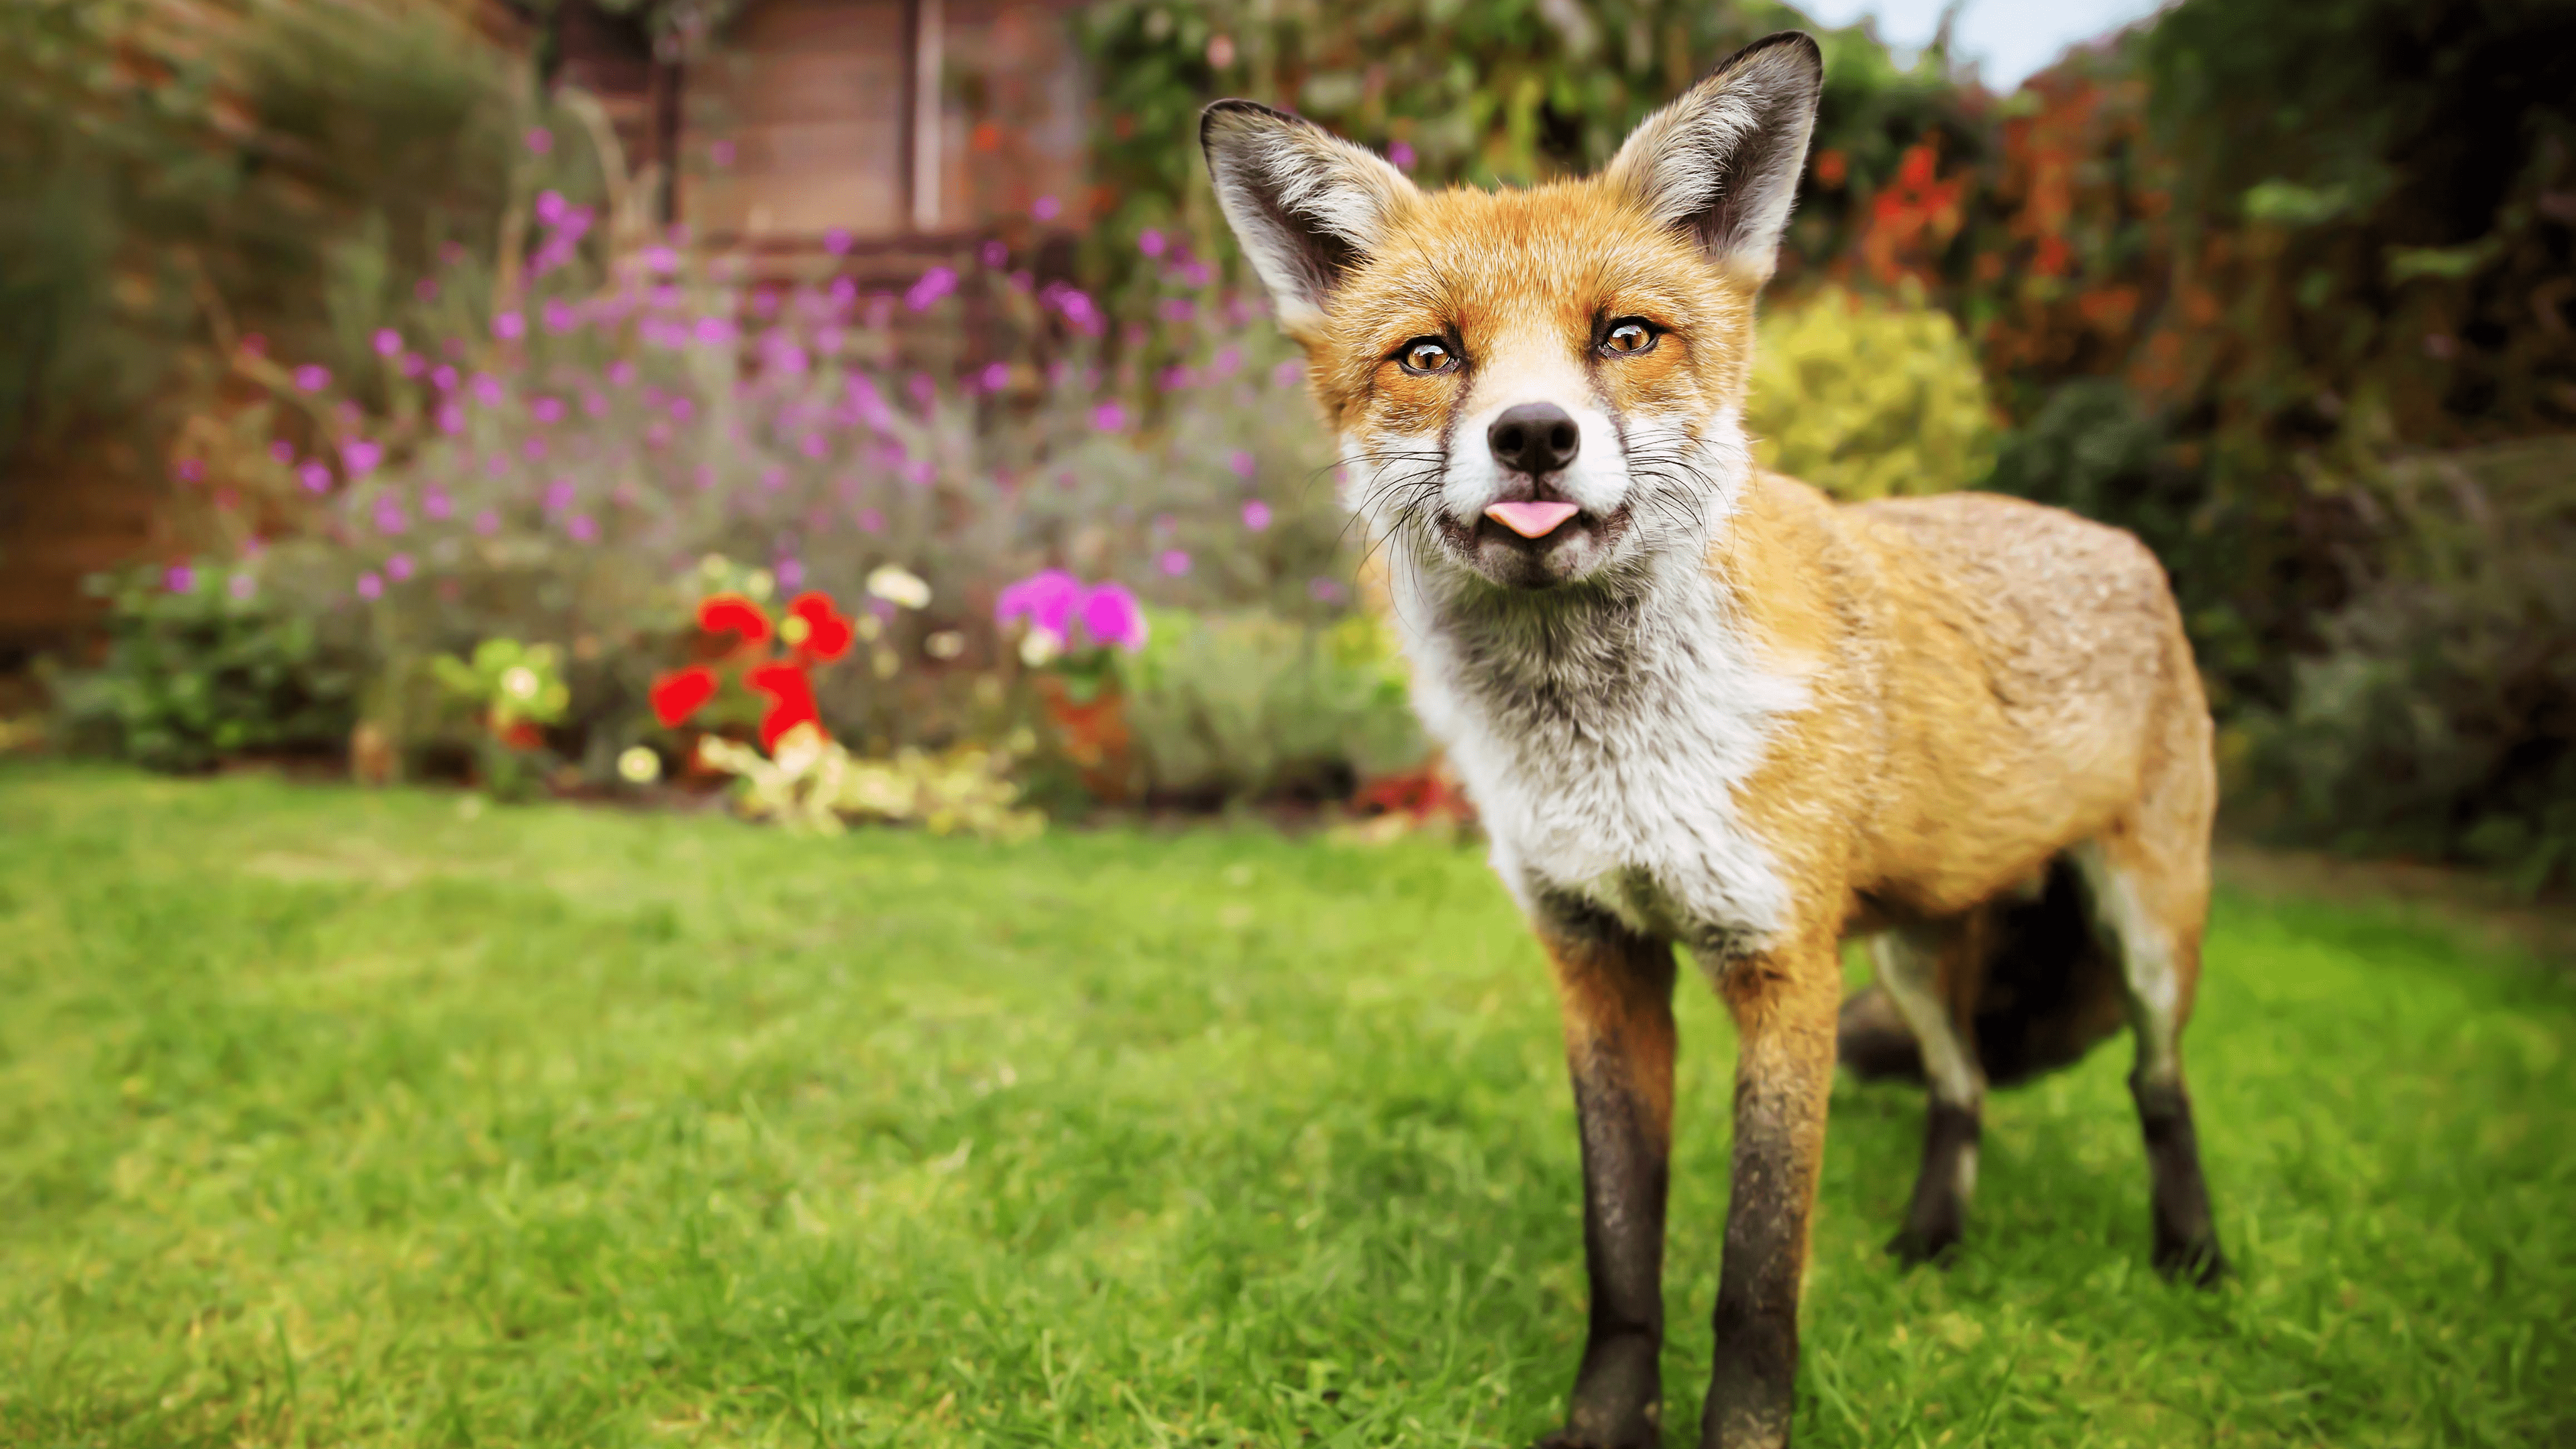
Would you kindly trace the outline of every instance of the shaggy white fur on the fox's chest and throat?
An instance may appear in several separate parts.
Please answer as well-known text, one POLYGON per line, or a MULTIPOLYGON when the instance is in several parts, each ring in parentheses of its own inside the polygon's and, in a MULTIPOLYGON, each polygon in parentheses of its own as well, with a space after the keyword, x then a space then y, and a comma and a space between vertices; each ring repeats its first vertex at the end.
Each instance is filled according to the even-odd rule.
POLYGON ((1492 608, 1399 583, 1396 614, 1417 621, 1414 706, 1522 910, 1577 895, 1636 931, 1739 949, 1785 926, 1788 887, 1736 792, 1806 686, 1759 668, 1698 570, 1674 572, 1625 601, 1492 608))

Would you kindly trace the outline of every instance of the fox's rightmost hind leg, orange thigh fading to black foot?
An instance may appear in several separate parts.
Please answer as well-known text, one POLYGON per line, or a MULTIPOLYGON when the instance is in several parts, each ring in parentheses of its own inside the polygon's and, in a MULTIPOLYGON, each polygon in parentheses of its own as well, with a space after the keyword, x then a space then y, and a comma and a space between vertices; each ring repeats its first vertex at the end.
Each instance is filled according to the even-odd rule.
POLYGON ((2200 1176, 2200 1134, 2182 1085, 2182 1026, 2200 985, 2200 926, 2208 866, 2195 851, 2159 851, 2136 830, 2112 830, 2069 851, 2084 877, 2094 928, 2120 964, 2138 1065, 2128 1091, 2138 1104, 2154 1178, 2156 1271, 2195 1284, 2226 1274, 2210 1189, 2200 1176))

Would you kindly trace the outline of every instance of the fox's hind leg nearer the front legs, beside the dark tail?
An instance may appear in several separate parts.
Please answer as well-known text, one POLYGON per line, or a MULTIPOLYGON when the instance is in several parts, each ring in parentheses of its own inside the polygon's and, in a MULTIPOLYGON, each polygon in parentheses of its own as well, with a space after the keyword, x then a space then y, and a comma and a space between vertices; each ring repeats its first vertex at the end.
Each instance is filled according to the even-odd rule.
POLYGON ((1878 985, 1914 1034, 1929 1088, 1914 1201, 1904 1230, 1888 1243, 1888 1253, 1904 1263, 1947 1258, 1968 1227, 1968 1199, 1976 1196, 1986 1073, 1963 1006, 1976 995, 1976 980, 1968 980, 1976 936, 1976 923, 1963 918, 1870 938, 1878 985))

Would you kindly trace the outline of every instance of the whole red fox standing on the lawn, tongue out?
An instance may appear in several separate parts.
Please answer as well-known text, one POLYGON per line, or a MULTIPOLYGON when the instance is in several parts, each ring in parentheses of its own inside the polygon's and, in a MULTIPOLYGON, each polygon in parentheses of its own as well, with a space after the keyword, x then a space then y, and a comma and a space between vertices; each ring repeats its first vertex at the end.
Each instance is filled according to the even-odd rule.
POLYGON ((1425 193, 1249 101, 1200 121, 1417 709, 1553 962, 1592 1281, 1561 1446, 1659 1441, 1674 944, 1741 1036, 1700 1444, 1788 1444, 1837 1024, 1855 1067, 1929 1083, 1891 1250, 1958 1240, 1986 1062, 2125 1018, 2156 1263, 2221 1271, 2179 1057, 2215 771, 2161 567, 2030 503, 1837 508, 1752 467, 1754 297, 1821 75, 1770 36, 1528 191, 1425 193), (1880 985, 1842 1013, 1847 936, 1880 985))

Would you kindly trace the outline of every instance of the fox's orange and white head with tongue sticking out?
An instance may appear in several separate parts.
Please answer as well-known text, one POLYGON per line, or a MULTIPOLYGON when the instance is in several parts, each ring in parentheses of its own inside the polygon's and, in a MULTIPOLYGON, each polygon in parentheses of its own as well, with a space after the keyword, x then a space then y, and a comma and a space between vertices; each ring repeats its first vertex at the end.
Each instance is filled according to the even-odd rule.
POLYGON ((1754 294, 1821 77, 1814 39, 1754 41, 1607 170, 1530 191, 1427 193, 1296 116, 1208 106, 1216 199, 1399 562, 1502 590, 1698 562, 1749 467, 1754 294))

